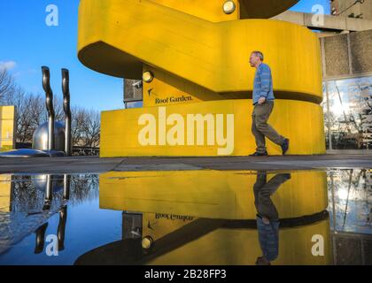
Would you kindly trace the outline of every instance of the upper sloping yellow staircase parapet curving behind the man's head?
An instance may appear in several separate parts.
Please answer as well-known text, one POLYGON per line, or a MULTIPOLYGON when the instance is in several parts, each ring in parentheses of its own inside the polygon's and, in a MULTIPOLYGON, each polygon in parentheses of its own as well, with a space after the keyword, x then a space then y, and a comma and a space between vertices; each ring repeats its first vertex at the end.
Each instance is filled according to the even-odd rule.
POLYGON ((100 73, 141 79, 148 64, 216 93, 252 91, 248 60, 261 50, 275 92, 322 101, 319 40, 284 21, 213 23, 147 0, 82 0, 78 50, 81 62, 100 73))

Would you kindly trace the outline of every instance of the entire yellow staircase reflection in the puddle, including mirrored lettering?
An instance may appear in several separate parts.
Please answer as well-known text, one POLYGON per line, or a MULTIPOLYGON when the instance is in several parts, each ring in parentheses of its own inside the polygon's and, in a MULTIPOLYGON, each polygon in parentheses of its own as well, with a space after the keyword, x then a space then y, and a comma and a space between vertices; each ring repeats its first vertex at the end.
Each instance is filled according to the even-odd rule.
MULTIPOLYGON (((99 204, 142 214, 143 247, 152 245, 155 256, 143 256, 141 264, 254 264, 262 255, 252 226, 258 173, 106 172, 99 178, 99 204)), ((275 175, 267 172, 267 181, 275 175)), ((327 173, 291 172, 270 199, 281 219, 272 264, 331 264, 329 218, 322 214, 328 207, 327 173), (322 255, 314 254, 318 244, 322 255)), ((105 250, 110 249, 99 255, 105 250)))

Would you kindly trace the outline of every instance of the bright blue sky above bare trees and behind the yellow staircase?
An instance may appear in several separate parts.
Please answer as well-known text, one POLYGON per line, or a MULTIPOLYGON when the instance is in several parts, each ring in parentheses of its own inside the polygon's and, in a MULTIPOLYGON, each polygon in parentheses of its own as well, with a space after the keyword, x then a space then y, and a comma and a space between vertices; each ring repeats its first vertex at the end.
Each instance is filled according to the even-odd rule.
MULTIPOLYGON (((329 13, 329 0, 302 0, 291 10, 311 12, 314 4, 329 13)), ((79 0, 0 1, 0 68, 7 65, 27 92, 43 94, 41 66, 48 65, 55 96, 62 96, 60 69, 68 68, 73 105, 123 108, 123 81, 89 70, 76 56, 78 6, 79 0), (50 4, 58 6, 58 27, 45 24, 50 4)))

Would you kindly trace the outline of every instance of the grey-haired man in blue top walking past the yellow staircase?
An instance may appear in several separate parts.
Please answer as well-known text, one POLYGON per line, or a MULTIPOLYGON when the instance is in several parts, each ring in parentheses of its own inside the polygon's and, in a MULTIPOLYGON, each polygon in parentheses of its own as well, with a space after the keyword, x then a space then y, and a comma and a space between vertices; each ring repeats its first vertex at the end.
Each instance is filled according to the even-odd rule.
POLYGON ((274 108, 273 79, 270 67, 263 63, 264 56, 260 51, 253 51, 250 57, 250 64, 255 67, 256 74, 253 84, 253 113, 252 113, 252 134, 256 139, 257 149, 251 157, 267 157, 266 141, 281 146, 283 155, 290 147, 290 140, 276 133, 275 129, 267 124, 274 108))

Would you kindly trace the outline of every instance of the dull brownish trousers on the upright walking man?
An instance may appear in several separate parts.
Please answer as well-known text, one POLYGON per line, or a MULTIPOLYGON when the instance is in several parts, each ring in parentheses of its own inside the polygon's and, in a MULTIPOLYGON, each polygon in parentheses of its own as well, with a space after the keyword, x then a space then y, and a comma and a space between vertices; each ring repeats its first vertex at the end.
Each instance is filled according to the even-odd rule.
POLYGON ((267 124, 267 120, 273 108, 274 102, 268 101, 263 104, 256 104, 253 108, 252 134, 256 139, 256 151, 259 153, 267 151, 265 137, 271 142, 275 142, 277 145, 282 145, 285 139, 282 135, 278 134, 272 126, 267 124))

